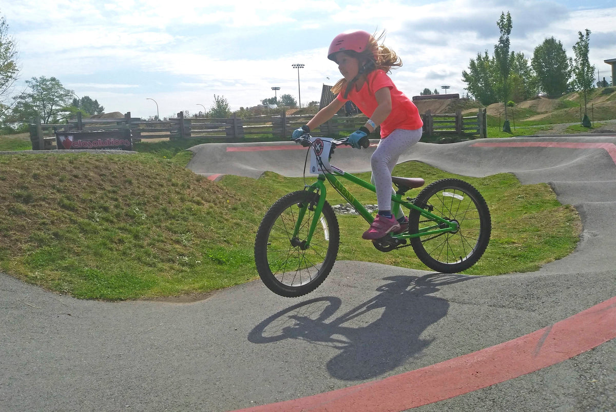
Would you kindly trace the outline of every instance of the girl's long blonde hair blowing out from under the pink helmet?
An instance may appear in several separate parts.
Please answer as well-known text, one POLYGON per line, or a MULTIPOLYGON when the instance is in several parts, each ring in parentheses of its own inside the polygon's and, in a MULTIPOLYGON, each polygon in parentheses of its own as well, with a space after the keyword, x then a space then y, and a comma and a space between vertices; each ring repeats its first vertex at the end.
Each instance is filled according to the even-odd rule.
MULTIPOLYGON (((379 44, 379 42, 381 42, 384 38, 384 30, 378 35, 375 32, 375 34, 372 34, 370 39, 368 39, 368 46, 363 52, 357 53, 349 51, 340 53, 348 53, 352 57, 359 59, 361 69, 364 70, 363 73, 360 71, 363 77, 375 70, 383 70, 385 73, 391 73, 392 67, 402 67, 402 60, 398 57, 394 50, 389 49, 389 47, 384 44, 379 44)), ((331 88, 331 92, 338 94, 342 90, 345 90, 346 87, 347 81, 342 78, 334 84, 331 88)))

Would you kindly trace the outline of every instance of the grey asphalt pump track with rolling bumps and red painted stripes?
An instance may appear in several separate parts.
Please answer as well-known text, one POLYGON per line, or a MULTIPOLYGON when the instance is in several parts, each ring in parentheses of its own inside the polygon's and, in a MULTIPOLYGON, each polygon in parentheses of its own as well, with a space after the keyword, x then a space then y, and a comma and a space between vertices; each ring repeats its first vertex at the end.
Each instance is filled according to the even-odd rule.
MULTIPOLYGON (((301 176, 306 156, 190 150, 212 180, 301 176)), ((371 150, 334 164, 368 170, 371 150)), ((616 410, 616 137, 418 143, 406 160, 549 183, 580 213, 578 247, 494 277, 338 261, 298 299, 255 281, 192 303, 81 301, 0 274, 0 410, 616 410)))

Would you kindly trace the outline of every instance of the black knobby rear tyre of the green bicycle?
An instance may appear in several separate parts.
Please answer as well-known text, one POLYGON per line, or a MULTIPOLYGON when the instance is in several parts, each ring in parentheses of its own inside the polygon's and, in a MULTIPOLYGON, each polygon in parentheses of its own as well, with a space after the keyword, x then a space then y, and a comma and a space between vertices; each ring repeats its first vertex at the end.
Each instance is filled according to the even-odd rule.
MULTIPOLYGON (((461 259, 459 259, 458 261, 448 263, 432 257, 431 252, 428 252, 424 245, 424 242, 426 242, 425 238, 422 239, 422 237, 414 237, 410 239, 410 243, 419 260, 421 260, 421 262, 428 266, 430 269, 440 273, 458 273, 476 264, 477 261, 479 261, 479 259, 481 258, 481 256, 484 255, 484 252, 488 247, 488 243, 490 242, 490 234, 492 232, 492 218, 490 217, 490 209, 488 208, 488 205, 480 192, 471 184, 460 179, 442 179, 429 184, 428 186, 426 186, 426 188, 419 192, 419 195, 415 199, 415 205, 421 208, 426 208, 429 199, 431 199, 431 197, 438 192, 445 191, 445 189, 455 189, 464 192, 466 196, 470 197, 473 204, 477 208, 477 214, 479 215, 479 236, 477 237, 476 244, 472 247, 471 252, 464 256, 464 258, 462 258, 462 256, 459 256, 461 259)), ((435 212, 432 213, 437 214, 435 212)), ((411 210, 411 213, 408 217, 409 233, 412 234, 419 231, 420 218, 421 214, 419 212, 417 212, 416 210, 411 210)), ((459 235, 460 238, 463 238, 462 231, 464 231, 463 223, 460 224, 460 230, 457 234, 448 234, 444 236, 459 235)), ((462 242, 464 242, 464 239, 462 239, 462 242)))

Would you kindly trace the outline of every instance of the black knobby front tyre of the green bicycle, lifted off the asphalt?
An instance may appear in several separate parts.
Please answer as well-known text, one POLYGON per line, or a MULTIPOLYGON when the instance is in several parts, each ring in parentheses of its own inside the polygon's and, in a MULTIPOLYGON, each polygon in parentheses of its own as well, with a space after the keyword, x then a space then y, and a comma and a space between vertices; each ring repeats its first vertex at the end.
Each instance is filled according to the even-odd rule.
MULTIPOLYGON (((314 277, 310 277, 309 282, 297 286, 286 285, 285 283, 280 282, 274 272, 272 272, 267 257, 268 245, 270 242, 270 233, 272 231, 272 228, 274 228, 274 224, 282 215, 282 213, 285 212, 285 210, 287 210, 288 208, 293 207, 293 205, 302 202, 317 202, 317 200, 318 195, 315 192, 291 192, 278 199, 274 203, 274 205, 270 207, 267 213, 265 213, 265 216, 261 220, 261 224, 259 225, 259 229, 257 230, 257 234, 254 240, 254 262, 256 264, 257 272, 259 273, 259 277, 261 277, 262 282, 267 288, 269 288, 269 290, 273 291, 277 295, 285 296, 286 298, 296 298, 298 296, 303 296, 307 293, 310 293, 323 283, 326 277, 330 274, 331 268, 334 266, 336 256, 338 255, 338 247, 340 243, 340 229, 338 226, 338 219, 336 218, 336 214, 334 213, 333 208, 331 208, 330 204, 328 204, 327 201, 325 201, 325 204, 323 204, 322 215, 325 218, 325 222, 328 228, 329 239, 326 246, 326 252, 324 253, 325 257, 323 258, 323 263, 317 269, 317 272, 314 277)), ((310 221, 311 219, 311 217, 308 219, 305 218, 305 221, 310 221)), ((289 239, 289 241, 290 240, 291 239, 289 239)), ((313 239, 313 244, 314 240, 315 239, 313 239)), ((301 249, 298 247, 294 247, 293 250, 298 254, 306 252, 301 251, 301 249)), ((289 253, 291 253, 291 247, 289 253)))

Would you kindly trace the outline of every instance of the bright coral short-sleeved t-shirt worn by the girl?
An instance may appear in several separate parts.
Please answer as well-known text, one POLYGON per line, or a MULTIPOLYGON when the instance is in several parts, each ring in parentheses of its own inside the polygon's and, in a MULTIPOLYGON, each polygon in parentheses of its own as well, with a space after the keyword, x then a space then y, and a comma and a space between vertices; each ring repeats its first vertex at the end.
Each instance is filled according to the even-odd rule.
POLYGON ((391 93, 391 113, 381 123, 381 138, 389 136, 395 129, 416 130, 423 126, 417 106, 395 87, 394 82, 383 70, 375 70, 368 73, 362 88, 349 92, 348 98, 343 97, 344 92, 338 93, 339 101, 351 100, 363 114, 370 117, 375 112, 378 103, 375 93, 383 87, 389 87, 391 93))

